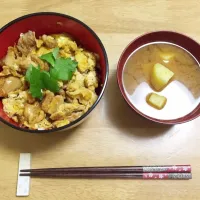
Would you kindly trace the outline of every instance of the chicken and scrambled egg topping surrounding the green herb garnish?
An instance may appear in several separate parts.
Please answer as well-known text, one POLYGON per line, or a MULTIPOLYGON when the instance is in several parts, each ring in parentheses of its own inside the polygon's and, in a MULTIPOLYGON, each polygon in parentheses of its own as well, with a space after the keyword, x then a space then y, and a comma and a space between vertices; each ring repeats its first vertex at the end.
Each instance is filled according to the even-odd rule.
POLYGON ((83 115, 97 99, 97 55, 80 48, 66 34, 42 35, 38 39, 32 31, 21 34, 0 63, 3 109, 22 127, 38 130, 62 127, 83 115), (43 99, 35 99, 25 80, 26 70, 32 64, 48 71, 49 64, 40 56, 55 47, 59 47, 59 56, 76 60, 78 67, 70 81, 59 81, 58 93, 44 90, 43 99))

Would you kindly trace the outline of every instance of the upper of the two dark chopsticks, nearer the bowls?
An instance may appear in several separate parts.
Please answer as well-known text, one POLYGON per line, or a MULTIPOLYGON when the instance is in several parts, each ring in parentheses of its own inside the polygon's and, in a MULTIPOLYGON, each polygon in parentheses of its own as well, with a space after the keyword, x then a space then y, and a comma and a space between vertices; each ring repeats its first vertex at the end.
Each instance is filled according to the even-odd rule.
POLYGON ((23 169, 20 172, 68 172, 68 173, 190 173, 191 165, 160 165, 160 166, 110 166, 110 167, 67 167, 23 169))

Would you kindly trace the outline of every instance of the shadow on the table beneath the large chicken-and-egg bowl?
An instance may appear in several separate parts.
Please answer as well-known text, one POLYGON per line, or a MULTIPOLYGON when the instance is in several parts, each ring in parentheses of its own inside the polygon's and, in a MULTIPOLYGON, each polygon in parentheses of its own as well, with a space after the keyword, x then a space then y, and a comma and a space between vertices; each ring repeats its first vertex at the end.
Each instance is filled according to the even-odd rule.
MULTIPOLYGON (((79 125, 80 127, 81 125, 79 125)), ((71 130, 65 130, 56 133, 26 133, 15 130, 7 125, 0 124, 0 146, 8 151, 15 153, 30 152, 38 153, 52 149, 69 140, 76 127, 71 130)))

